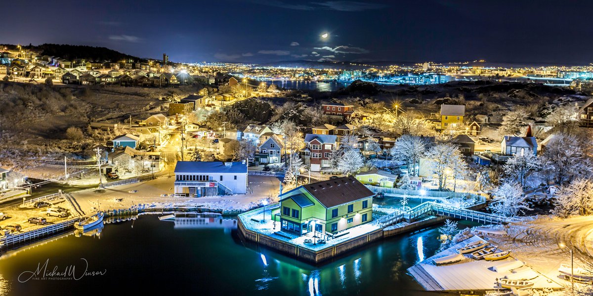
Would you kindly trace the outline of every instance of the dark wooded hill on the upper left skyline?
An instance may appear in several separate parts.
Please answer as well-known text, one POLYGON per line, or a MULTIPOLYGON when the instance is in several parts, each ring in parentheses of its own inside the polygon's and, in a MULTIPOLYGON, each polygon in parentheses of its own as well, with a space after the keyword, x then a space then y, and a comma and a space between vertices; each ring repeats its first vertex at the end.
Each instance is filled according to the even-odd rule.
POLYGON ((56 56, 67 60, 87 59, 94 61, 110 60, 111 62, 116 62, 119 60, 131 59, 135 62, 145 61, 139 57, 120 53, 116 50, 108 49, 107 47, 45 43, 39 46, 27 46, 25 48, 41 50, 42 56, 56 56))

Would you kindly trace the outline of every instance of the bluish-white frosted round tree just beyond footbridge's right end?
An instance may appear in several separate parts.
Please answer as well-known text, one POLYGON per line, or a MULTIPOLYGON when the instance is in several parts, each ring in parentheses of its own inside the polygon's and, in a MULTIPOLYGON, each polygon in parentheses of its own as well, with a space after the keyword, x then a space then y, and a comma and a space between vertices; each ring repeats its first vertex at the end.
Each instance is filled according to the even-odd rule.
POLYGON ((500 185, 495 192, 490 203, 490 209, 506 217, 513 217, 524 210, 531 210, 528 207, 526 197, 523 194, 522 186, 519 184, 505 183, 500 185))

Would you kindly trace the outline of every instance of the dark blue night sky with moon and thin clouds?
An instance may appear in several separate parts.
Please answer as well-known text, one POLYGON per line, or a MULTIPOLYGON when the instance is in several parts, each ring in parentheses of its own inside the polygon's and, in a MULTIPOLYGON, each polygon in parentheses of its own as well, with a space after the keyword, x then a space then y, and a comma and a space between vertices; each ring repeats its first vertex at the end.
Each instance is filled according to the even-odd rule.
POLYGON ((592 1, 10 1, 0 43, 173 62, 593 62, 592 1), (321 34, 330 34, 322 40, 321 34))

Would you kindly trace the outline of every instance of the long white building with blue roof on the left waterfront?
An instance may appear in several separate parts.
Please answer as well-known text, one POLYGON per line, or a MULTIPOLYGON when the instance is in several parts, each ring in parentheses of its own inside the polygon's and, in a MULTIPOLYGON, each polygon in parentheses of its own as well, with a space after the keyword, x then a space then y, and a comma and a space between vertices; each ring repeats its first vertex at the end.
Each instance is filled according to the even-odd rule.
POLYGON ((206 197, 247 193, 247 163, 177 162, 175 194, 206 197))

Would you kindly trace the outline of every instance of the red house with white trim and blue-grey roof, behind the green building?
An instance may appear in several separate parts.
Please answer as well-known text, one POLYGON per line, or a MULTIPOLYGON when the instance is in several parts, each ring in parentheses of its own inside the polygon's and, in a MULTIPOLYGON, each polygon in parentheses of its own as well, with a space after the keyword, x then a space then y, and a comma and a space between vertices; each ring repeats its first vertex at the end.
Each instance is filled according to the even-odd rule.
POLYGON ((320 172, 323 168, 331 168, 331 150, 336 147, 337 137, 330 134, 306 134, 304 163, 312 172, 320 172))

